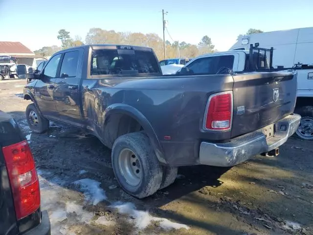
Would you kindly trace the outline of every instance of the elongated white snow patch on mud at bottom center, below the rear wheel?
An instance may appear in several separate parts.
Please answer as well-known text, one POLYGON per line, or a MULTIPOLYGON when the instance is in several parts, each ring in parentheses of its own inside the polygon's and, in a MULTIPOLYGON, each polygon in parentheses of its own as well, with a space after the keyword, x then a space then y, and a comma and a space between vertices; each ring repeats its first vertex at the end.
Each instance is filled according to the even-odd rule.
POLYGON ((158 218, 152 216, 148 211, 138 211, 133 203, 121 203, 117 202, 112 205, 112 208, 116 208, 122 214, 128 214, 132 216, 131 221, 135 222, 135 226, 139 229, 144 229, 149 226, 152 221, 159 222, 159 226, 163 229, 170 230, 170 229, 189 229, 187 225, 179 224, 171 222, 165 218, 158 218))

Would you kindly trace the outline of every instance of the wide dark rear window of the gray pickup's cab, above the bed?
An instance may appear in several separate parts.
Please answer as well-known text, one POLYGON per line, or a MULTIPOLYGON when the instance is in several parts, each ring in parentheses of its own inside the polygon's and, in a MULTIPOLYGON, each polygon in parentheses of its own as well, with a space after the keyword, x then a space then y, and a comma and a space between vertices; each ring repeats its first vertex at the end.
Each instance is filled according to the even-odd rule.
POLYGON ((158 61, 149 50, 130 47, 94 49, 91 53, 90 75, 136 75, 161 73, 158 61))

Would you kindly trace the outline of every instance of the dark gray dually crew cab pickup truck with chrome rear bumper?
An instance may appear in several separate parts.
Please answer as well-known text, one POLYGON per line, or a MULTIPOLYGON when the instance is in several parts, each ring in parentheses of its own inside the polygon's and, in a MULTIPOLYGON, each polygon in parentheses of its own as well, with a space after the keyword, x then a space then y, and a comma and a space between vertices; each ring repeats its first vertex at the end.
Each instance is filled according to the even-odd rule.
POLYGON ((24 88, 31 130, 53 120, 98 137, 112 148, 119 184, 138 198, 172 184, 178 166, 275 154, 300 122, 293 72, 163 76, 146 47, 62 50, 34 78, 24 88))

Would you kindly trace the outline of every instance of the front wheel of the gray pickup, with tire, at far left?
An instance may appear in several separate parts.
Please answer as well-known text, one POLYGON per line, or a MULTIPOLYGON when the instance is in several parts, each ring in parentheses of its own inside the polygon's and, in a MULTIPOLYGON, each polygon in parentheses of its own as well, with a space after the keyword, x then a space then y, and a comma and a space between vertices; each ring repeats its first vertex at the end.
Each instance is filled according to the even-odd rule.
POLYGON ((29 128, 38 134, 45 133, 49 129, 49 120, 42 117, 34 104, 29 104, 25 111, 29 128))

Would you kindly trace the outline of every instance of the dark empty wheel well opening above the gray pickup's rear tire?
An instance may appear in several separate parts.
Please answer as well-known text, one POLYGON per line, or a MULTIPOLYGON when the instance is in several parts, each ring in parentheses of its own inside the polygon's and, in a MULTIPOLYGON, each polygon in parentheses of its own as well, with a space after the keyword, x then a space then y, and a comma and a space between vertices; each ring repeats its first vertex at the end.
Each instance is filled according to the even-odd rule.
POLYGON ((140 123, 127 114, 116 113, 106 119, 104 126, 104 142, 112 148, 114 141, 125 134, 143 130, 140 123))

